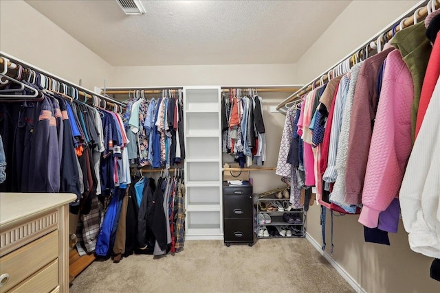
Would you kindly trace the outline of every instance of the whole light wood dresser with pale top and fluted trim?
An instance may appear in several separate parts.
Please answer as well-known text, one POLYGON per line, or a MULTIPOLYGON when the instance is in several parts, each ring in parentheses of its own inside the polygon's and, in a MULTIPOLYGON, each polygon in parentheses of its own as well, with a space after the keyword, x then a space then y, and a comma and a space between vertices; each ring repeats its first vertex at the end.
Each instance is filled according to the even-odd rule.
POLYGON ((69 292, 74 194, 0 193, 0 292, 69 292))

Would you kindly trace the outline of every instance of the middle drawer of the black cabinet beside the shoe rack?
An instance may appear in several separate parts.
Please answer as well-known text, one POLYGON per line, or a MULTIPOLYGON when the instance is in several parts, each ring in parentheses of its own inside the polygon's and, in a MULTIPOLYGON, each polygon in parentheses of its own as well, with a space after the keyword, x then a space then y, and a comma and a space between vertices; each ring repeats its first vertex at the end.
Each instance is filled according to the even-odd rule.
POLYGON ((223 196, 224 218, 252 218, 252 195, 223 196))

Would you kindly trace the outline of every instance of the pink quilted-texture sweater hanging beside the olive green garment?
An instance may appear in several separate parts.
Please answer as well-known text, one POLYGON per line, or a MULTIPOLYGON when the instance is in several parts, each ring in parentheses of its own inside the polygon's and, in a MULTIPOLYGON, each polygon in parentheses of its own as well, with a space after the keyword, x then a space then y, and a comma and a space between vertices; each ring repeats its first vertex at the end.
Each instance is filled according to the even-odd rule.
POLYGON ((399 196, 406 163, 412 148, 411 104, 414 86, 411 73, 398 50, 388 54, 382 91, 362 191, 359 222, 375 228, 379 213, 399 196))

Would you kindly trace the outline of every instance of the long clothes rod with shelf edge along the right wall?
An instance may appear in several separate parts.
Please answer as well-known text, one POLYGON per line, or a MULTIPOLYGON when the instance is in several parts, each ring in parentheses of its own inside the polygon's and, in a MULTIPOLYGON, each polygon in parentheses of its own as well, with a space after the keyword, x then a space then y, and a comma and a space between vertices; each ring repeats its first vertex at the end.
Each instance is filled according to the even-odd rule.
MULTIPOLYGON (((362 56, 363 55, 362 49, 364 48, 368 49, 369 51, 373 51, 371 44, 374 43, 374 46, 377 46, 378 39, 382 40, 384 36, 386 36, 386 38, 388 39, 391 38, 393 34, 401 30, 400 27, 406 28, 411 25, 414 25, 415 23, 414 19, 417 19, 417 23, 426 19, 426 16, 428 16, 428 5, 430 5, 430 7, 434 6, 435 9, 438 9, 440 7, 440 0, 420 1, 419 3, 417 3, 410 10, 399 16, 399 18, 393 21, 393 23, 385 27, 381 32, 377 33, 375 36, 367 40, 360 47, 358 47, 350 54, 342 58, 342 60, 338 61, 335 65, 333 65, 332 67, 330 67, 329 69, 318 75, 317 78, 314 78, 314 80, 311 80, 310 82, 305 84, 298 91, 296 91, 292 95, 289 95, 289 97, 284 99, 283 102, 279 103, 276 106, 276 110, 283 108, 289 102, 295 102, 296 100, 300 99, 302 95, 309 93, 309 91, 314 89, 317 82, 322 82, 322 84, 325 84, 329 79, 329 75, 331 75, 331 73, 333 73, 336 68, 340 67, 343 62, 347 62, 347 59, 350 58, 349 60, 350 67, 353 66, 352 60, 355 54, 360 54, 360 56, 362 56)), ((383 45, 384 44, 382 44, 382 46, 383 45)), ((375 53, 371 55, 368 54, 368 56, 373 56, 373 55, 375 55, 375 53)))

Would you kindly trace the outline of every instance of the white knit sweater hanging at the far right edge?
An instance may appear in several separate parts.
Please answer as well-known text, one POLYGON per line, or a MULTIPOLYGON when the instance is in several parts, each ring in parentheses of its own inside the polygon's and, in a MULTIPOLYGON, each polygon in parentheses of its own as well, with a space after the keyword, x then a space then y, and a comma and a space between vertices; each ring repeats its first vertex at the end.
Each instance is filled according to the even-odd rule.
POLYGON ((412 148, 399 199, 410 248, 440 258, 440 78, 412 148))

